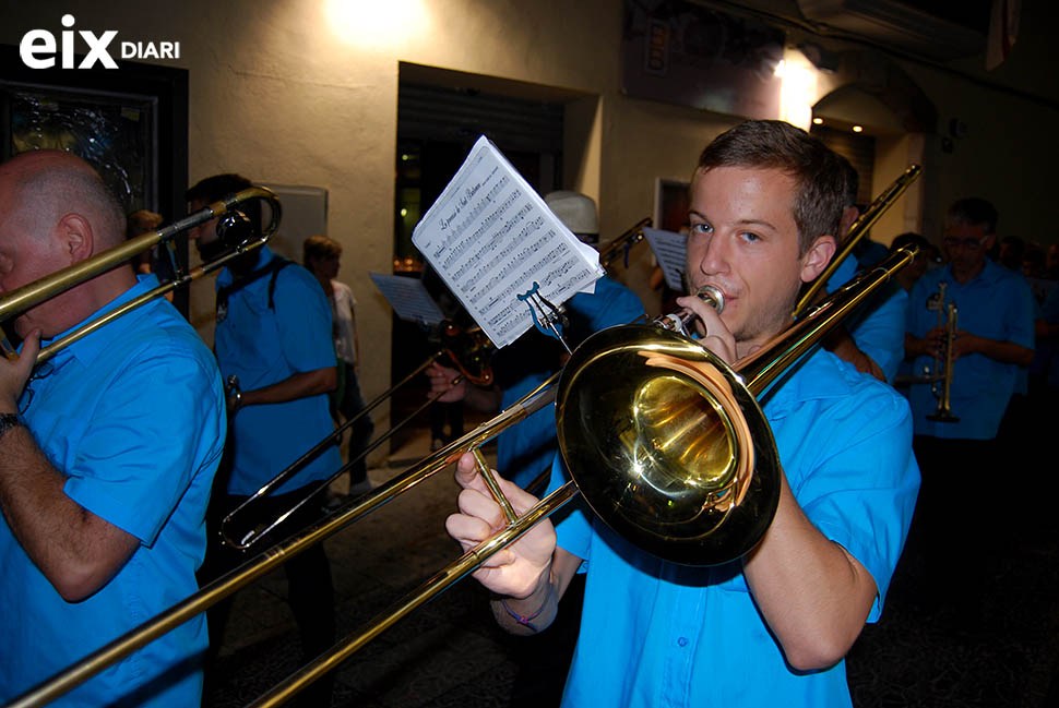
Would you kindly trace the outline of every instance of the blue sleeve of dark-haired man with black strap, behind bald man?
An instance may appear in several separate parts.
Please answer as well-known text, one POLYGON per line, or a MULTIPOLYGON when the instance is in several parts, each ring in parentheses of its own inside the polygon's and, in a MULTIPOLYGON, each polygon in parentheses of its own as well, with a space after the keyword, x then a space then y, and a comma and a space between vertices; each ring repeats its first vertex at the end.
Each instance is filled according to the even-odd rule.
POLYGON ((331 305, 320 284, 301 266, 288 265, 276 278, 274 302, 279 346, 291 371, 336 365, 331 305))

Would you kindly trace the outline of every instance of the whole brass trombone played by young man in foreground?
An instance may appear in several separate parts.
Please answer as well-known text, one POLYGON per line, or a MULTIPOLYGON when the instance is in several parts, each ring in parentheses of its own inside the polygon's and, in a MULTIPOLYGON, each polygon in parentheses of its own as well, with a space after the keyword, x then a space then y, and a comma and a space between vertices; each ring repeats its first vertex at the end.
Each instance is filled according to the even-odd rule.
MULTIPOLYGON (((915 253, 914 247, 899 249, 735 367, 729 368, 701 345, 662 323, 614 327, 593 335, 574 351, 561 372, 558 386, 552 385, 554 376, 497 418, 430 455, 361 497, 354 506, 319 521, 203 587, 25 694, 9 708, 41 706, 73 688, 279 563, 444 469, 464 452, 477 451, 500 431, 551 400, 558 400, 556 417, 560 448, 573 481, 549 494, 520 518, 513 518, 510 505, 507 505, 510 523, 500 533, 437 573, 367 629, 343 639, 254 701, 253 706, 278 705, 336 668, 415 608, 516 541, 573 499, 579 489, 604 520, 628 532, 632 543, 650 553, 679 563, 697 564, 738 557, 752 548, 769 527, 778 500, 780 468, 775 444, 755 397, 866 297, 911 263, 915 253), (629 374, 627 384, 615 385, 615 370, 629 374), (743 384, 743 381, 749 383, 743 384), (611 393, 610 388, 619 391, 611 393), (599 411, 591 405, 591 399, 603 395, 608 396, 610 405, 618 401, 634 406, 642 404, 643 415, 629 411, 630 420, 620 429, 594 430, 587 423, 592 422, 591 416, 599 411), (693 430, 703 434, 694 435, 693 430), (580 442, 575 440, 579 435, 584 435, 580 442), (620 470, 600 461, 610 455, 621 456, 633 468, 620 470), (606 475, 594 479, 596 470, 600 469, 606 475)), ((705 297, 710 295, 705 293, 705 297)), ((688 319, 679 317, 683 322, 688 319)), ((607 415, 596 422, 602 428, 611 427, 612 416, 607 415)), ((476 457, 489 480, 491 471, 483 465, 480 455, 476 457)), ((496 493, 502 497, 499 490, 496 493)), ((499 497, 498 502, 504 507, 499 497)))

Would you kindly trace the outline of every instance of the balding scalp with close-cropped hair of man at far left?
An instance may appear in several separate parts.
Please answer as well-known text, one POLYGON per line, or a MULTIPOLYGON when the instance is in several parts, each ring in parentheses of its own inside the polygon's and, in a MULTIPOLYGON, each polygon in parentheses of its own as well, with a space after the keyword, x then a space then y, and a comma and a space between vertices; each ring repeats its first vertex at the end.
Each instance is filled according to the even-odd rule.
POLYGON ((92 225, 96 251, 124 239, 121 205, 88 163, 62 151, 22 153, 0 166, 0 189, 11 189, 19 218, 36 233, 46 233, 67 214, 80 214, 92 225))

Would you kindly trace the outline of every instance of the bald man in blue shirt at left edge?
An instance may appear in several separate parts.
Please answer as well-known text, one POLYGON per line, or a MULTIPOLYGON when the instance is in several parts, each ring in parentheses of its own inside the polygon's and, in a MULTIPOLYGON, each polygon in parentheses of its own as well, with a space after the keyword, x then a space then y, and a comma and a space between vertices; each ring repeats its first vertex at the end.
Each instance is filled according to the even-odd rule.
MULTIPOLYGON (((0 166, 0 297, 120 243, 99 176, 61 152, 0 166)), ((34 367, 38 348, 157 286, 117 267, 20 315, 0 360, 0 703, 197 589, 224 440, 210 350, 158 299, 34 367)), ((55 706, 198 706, 192 620, 55 706)))

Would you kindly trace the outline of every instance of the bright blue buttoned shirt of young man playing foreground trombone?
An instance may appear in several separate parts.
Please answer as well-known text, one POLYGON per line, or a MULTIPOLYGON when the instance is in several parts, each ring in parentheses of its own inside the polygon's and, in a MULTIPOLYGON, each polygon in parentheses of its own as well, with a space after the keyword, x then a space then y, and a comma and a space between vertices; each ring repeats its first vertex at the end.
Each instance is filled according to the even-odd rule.
MULTIPOLYGON (((907 401, 818 351, 769 392, 764 411, 798 504, 874 578, 869 621, 878 620, 919 485, 907 401)), ((564 477, 557 457, 552 488, 564 477)), ((583 511, 557 532, 587 567, 563 706, 852 705, 844 662, 788 668, 741 561, 667 563, 583 511)))

